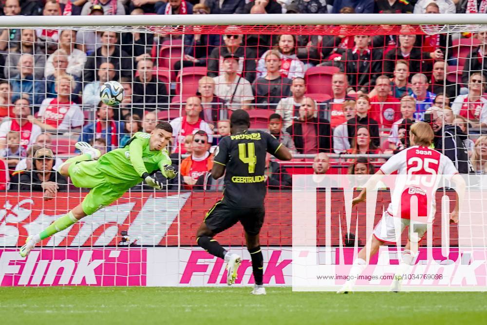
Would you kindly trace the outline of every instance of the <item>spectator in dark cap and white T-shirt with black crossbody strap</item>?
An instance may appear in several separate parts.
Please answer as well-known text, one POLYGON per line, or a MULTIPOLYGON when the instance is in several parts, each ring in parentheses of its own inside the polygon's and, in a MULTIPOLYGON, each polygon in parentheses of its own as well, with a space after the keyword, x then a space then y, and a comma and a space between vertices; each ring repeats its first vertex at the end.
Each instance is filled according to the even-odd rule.
POLYGON ((239 61, 239 57, 227 53, 223 59, 224 73, 213 78, 215 95, 224 99, 230 109, 245 109, 254 100, 250 82, 237 73, 239 61))

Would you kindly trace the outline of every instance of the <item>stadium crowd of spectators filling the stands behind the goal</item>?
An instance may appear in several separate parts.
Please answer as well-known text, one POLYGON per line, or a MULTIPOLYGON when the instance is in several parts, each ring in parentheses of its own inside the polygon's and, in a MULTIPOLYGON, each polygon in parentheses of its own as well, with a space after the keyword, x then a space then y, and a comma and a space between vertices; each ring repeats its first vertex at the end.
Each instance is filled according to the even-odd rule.
MULTIPOLYGON (((2 0, 1 6, 5 16, 473 14, 486 13, 486 3, 2 0)), ((1 29, 0 169, 6 175, 0 188, 66 191, 68 181, 56 169, 75 154, 74 142, 107 152, 170 120, 180 178, 169 186, 180 181, 185 190, 221 190, 223 181, 208 173, 212 153, 230 134, 232 111, 241 108, 251 128, 276 136, 294 162, 310 160, 307 173, 371 173, 409 146, 409 128, 423 120, 435 132, 435 149, 460 172, 487 173, 487 33, 416 35, 400 26, 387 35, 386 26, 383 35, 353 35, 348 27, 343 35, 322 36, 246 35, 237 26, 222 35, 1 29), (100 86, 110 80, 124 87, 119 107, 100 101, 100 86), (334 158, 344 153, 361 156, 334 158)), ((290 189, 293 171, 286 167, 296 170, 268 156, 269 189, 290 189)))

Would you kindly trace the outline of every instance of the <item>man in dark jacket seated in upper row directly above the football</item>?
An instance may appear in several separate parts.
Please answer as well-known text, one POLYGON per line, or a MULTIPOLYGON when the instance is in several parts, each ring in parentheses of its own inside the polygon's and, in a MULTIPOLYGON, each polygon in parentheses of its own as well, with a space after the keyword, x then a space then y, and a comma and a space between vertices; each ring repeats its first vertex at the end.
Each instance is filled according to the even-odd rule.
POLYGON ((84 69, 84 81, 92 82, 95 76, 95 70, 100 67, 103 62, 112 62, 117 74, 115 79, 119 76, 132 77, 133 60, 127 52, 123 51, 118 44, 118 33, 106 31, 101 34, 102 46, 93 54, 88 56, 84 69))

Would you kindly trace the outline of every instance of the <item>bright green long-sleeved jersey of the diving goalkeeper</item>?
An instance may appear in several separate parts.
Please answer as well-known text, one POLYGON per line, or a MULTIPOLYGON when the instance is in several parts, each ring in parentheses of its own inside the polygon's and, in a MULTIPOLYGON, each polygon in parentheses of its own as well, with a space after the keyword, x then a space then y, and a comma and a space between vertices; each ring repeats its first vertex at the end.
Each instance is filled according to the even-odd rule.
MULTIPOLYGON (((113 184, 136 185, 144 172, 160 170, 164 176, 165 165, 171 165, 166 149, 150 150, 150 134, 137 132, 124 148, 112 150, 100 157, 97 169, 113 184)), ((133 186, 131 185, 131 186, 133 186)))

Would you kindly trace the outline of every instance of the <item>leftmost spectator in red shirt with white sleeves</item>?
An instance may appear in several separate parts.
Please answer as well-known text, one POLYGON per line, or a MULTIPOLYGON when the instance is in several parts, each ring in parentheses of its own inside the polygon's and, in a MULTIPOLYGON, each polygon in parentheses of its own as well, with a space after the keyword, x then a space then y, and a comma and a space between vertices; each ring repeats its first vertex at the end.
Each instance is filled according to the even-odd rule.
POLYGON ((7 134, 9 131, 20 133, 20 145, 27 149, 34 143, 37 136, 42 133, 39 126, 29 121, 28 116, 32 115, 32 108, 28 98, 18 98, 14 101, 13 113, 14 118, 5 120, 0 125, 0 148, 5 147, 7 143, 7 134))

